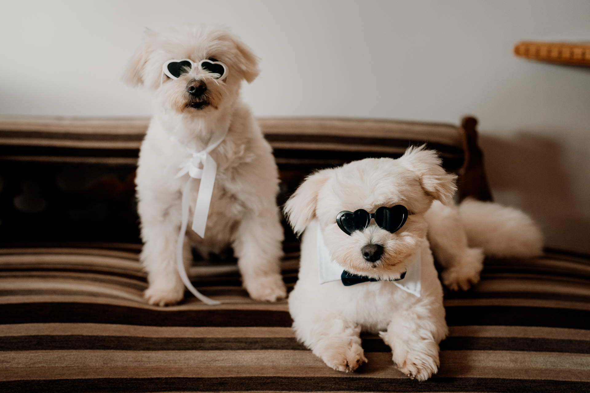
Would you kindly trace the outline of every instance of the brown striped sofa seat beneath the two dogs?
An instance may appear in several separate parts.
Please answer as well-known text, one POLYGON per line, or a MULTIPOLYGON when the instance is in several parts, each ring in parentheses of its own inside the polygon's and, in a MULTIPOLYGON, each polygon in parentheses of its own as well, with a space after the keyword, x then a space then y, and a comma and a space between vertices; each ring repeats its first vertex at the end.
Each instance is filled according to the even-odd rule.
MULTIPOLYGON (((294 285, 298 253, 283 261, 294 285)), ((2 249, 0 391, 582 392, 590 389, 590 264, 548 252, 487 260, 474 290, 447 293, 450 336, 426 382, 364 335, 368 364, 337 372, 294 338, 287 302, 260 303, 235 265, 193 267, 205 295, 146 305, 133 250, 2 249)))

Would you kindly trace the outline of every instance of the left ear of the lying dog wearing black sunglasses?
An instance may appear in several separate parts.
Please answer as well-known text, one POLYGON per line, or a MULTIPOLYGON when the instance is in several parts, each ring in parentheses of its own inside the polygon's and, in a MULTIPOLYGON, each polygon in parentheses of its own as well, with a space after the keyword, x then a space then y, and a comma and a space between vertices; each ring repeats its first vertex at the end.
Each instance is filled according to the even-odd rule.
POLYGON ((296 235, 301 232, 316 218, 317 194, 330 179, 332 170, 326 169, 310 176, 291 195, 283 211, 296 235))

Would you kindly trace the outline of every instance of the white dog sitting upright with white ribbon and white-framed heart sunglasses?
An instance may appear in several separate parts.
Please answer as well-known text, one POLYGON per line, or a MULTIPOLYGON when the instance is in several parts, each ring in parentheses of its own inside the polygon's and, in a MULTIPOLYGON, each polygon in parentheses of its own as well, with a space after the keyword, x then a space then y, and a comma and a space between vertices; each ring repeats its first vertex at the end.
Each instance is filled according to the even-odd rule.
POLYGON ((214 27, 148 32, 130 61, 124 81, 145 85, 154 104, 136 177, 150 304, 182 299, 177 246, 188 266, 189 240, 216 253, 231 245, 253 299, 286 296, 277 166, 240 99, 242 80, 252 82, 258 72, 253 52, 214 27), (181 234, 179 241, 181 223, 188 224, 188 239, 181 234))

